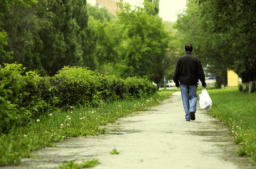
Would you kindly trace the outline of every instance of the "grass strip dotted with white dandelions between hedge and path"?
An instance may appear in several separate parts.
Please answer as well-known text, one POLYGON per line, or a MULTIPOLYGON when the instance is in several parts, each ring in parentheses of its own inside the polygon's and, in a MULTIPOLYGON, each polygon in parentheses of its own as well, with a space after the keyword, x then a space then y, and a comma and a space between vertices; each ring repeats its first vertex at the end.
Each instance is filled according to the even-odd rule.
POLYGON ((176 90, 160 90, 155 95, 138 100, 114 101, 103 103, 97 108, 70 107, 40 117, 25 127, 12 127, 9 134, 0 136, 0 166, 19 164, 20 159, 31 157, 31 152, 45 146, 54 146, 56 141, 67 137, 100 135, 105 133, 104 126, 117 118, 146 110, 170 97, 176 90))

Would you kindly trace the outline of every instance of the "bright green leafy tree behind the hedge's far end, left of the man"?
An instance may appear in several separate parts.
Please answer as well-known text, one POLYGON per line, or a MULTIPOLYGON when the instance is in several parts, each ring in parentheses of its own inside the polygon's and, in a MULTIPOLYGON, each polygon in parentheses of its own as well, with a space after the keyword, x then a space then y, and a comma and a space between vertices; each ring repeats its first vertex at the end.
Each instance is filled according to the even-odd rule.
POLYGON ((124 77, 148 75, 153 78, 167 54, 169 35, 159 16, 129 5, 122 7, 118 21, 123 25, 123 42, 118 47, 124 77))

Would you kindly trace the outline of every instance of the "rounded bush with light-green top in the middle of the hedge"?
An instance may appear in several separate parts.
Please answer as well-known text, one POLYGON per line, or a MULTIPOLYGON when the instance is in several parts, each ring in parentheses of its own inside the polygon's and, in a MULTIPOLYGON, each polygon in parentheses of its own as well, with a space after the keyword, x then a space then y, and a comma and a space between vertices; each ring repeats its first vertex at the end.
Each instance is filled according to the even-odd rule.
POLYGON ((97 91, 99 81, 87 68, 67 67, 59 70, 52 77, 51 83, 57 88, 56 95, 60 99, 59 107, 71 105, 93 105, 100 99, 97 91))

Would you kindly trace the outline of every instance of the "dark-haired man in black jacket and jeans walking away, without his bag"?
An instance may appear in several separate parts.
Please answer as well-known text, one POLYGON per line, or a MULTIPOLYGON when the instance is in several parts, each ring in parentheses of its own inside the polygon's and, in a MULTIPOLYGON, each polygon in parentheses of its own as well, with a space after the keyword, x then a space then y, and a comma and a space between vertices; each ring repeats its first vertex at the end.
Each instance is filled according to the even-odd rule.
POLYGON ((202 82, 203 88, 206 88, 206 78, 200 60, 192 55, 193 46, 187 44, 184 50, 186 54, 177 61, 173 81, 177 88, 181 88, 186 121, 190 121, 190 119, 194 121, 195 112, 197 111, 198 79, 202 82))

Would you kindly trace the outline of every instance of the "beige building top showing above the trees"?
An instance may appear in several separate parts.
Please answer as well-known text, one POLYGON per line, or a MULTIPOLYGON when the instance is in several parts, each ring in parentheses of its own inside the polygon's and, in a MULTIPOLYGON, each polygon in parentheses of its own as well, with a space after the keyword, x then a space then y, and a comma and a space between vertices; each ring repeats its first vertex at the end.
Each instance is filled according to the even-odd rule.
POLYGON ((120 9, 118 3, 123 3, 123 0, 96 0, 96 5, 99 8, 106 8, 111 14, 116 15, 116 12, 120 9))

